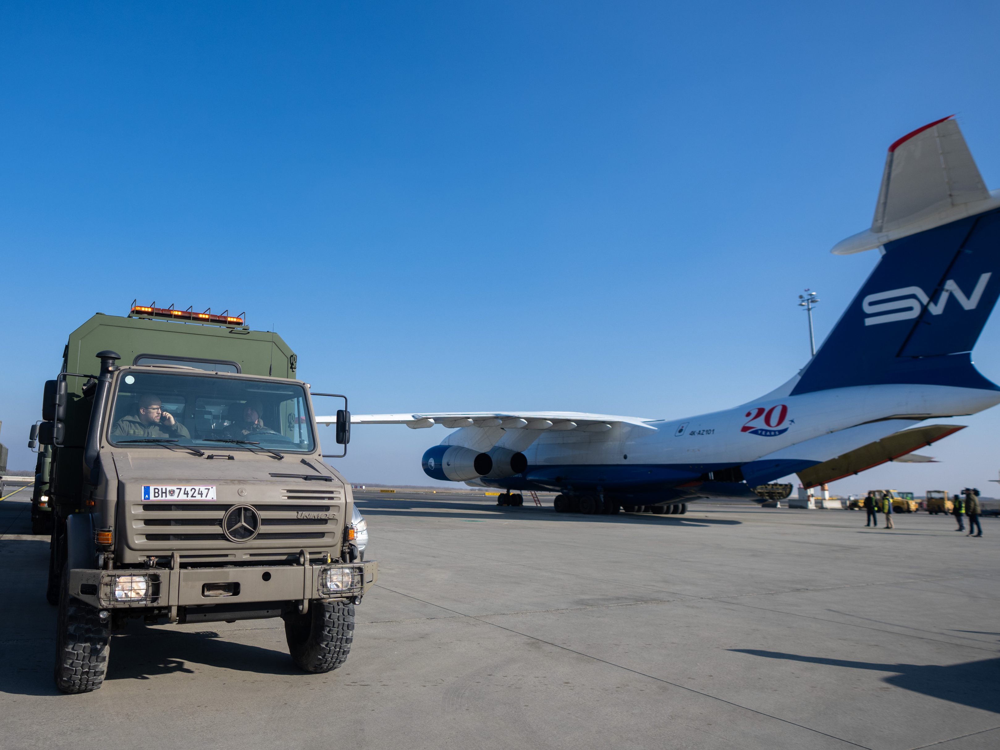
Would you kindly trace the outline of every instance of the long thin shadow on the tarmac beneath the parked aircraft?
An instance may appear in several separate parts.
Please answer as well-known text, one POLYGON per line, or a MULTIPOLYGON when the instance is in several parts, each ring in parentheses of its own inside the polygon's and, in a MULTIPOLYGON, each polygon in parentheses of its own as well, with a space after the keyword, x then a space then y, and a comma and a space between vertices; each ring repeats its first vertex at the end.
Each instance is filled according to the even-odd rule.
POLYGON ((734 521, 725 518, 699 518, 694 519, 685 516, 656 516, 645 513, 620 513, 614 516, 587 516, 579 513, 556 513, 552 508, 535 507, 526 505, 520 508, 511 508, 501 505, 490 505, 487 503, 448 503, 434 501, 414 501, 407 500, 358 500, 358 509, 365 516, 414 516, 422 518, 454 518, 458 520, 476 521, 507 521, 512 518, 522 521, 550 521, 550 522, 575 522, 575 523, 632 523, 632 524, 661 524, 664 526, 735 526, 742 524, 742 521, 734 521), (445 513, 435 511, 450 511, 445 513), (456 511, 478 511, 476 513, 459 513, 456 511), (483 512, 490 515, 484 515, 483 512))

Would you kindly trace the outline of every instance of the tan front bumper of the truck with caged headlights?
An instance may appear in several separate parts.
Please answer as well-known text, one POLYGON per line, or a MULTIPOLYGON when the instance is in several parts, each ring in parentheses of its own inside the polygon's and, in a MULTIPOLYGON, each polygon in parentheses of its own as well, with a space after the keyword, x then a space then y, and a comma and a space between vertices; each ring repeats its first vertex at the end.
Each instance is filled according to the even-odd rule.
POLYGON ((99 609, 146 609, 252 602, 353 599, 362 597, 378 580, 378 562, 324 565, 275 565, 231 568, 159 568, 69 571, 71 596, 99 609), (355 585, 331 592, 321 575, 330 568, 353 568, 355 585), (144 576, 145 596, 134 601, 115 598, 116 579, 144 576), (219 595, 222 589, 225 593, 219 595))

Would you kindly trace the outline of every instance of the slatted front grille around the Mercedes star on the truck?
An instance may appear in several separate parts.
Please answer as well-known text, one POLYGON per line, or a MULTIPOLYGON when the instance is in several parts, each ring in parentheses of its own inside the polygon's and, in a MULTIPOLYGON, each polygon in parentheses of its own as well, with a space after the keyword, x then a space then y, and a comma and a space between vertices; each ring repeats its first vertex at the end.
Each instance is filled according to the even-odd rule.
POLYGON ((260 514, 260 532, 245 544, 231 542, 222 533, 222 517, 234 502, 129 503, 129 546, 153 550, 162 542, 181 543, 178 549, 261 549, 306 544, 331 547, 344 525, 343 496, 339 490, 288 489, 284 502, 250 502, 260 514), (320 517, 317 517, 320 516, 320 517))

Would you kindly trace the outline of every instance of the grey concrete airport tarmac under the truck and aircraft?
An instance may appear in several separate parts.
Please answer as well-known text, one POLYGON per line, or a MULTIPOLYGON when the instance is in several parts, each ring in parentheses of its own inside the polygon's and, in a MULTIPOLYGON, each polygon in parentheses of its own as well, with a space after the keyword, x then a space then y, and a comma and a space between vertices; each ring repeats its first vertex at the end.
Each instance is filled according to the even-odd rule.
POLYGON ((21 494, 0 503, 5 748, 1000 746, 992 518, 969 539, 927 514, 358 492, 380 580, 341 669, 297 672, 280 620, 136 625, 99 691, 64 696, 21 494))

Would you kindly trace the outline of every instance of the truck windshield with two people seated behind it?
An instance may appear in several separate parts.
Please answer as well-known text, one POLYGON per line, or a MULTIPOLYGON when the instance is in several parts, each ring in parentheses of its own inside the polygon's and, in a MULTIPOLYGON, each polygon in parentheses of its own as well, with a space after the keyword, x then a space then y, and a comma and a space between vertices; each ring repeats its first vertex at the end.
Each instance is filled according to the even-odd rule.
POLYGON ((298 383, 133 371, 118 378, 114 404, 114 445, 142 441, 155 448, 151 439, 161 438, 226 451, 310 453, 315 446, 298 383))

